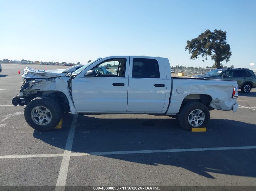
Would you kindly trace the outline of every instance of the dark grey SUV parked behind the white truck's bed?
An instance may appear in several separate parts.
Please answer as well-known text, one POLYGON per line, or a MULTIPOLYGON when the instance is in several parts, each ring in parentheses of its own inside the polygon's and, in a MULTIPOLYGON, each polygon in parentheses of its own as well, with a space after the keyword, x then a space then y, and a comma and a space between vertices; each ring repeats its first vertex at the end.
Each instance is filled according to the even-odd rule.
POLYGON ((249 93, 251 88, 256 88, 255 74, 248 68, 218 68, 205 75, 196 75, 191 78, 234 80, 237 81, 239 89, 244 93, 249 93))

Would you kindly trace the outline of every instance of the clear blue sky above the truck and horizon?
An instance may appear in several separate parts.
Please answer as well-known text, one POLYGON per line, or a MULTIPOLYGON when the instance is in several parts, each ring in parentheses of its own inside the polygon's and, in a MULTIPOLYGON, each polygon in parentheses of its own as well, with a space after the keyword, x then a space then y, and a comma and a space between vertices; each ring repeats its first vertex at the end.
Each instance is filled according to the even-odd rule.
MULTIPOLYGON (((227 31, 227 65, 256 69, 256 1, 2 1, 0 59, 82 62, 109 55, 190 60, 186 41, 205 29, 227 31)), ((223 62, 225 64, 225 62, 223 62)))

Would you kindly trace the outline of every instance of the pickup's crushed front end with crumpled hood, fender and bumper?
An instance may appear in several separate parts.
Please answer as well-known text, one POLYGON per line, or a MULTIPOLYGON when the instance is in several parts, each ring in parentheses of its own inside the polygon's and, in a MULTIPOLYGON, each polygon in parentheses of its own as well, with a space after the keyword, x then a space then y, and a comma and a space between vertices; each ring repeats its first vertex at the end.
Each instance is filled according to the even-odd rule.
POLYGON ((71 113, 76 113, 71 99, 71 78, 65 75, 58 71, 47 72, 27 67, 22 72, 24 81, 20 93, 13 97, 12 104, 24 106, 35 97, 55 96, 59 93, 58 98, 67 99, 71 113))

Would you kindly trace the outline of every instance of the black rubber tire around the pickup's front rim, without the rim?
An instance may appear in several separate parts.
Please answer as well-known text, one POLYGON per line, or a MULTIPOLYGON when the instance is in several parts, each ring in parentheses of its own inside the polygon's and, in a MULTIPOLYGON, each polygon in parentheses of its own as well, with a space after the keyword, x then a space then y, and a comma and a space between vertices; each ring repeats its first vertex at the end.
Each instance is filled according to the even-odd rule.
MULTIPOLYGON (((31 100, 24 110, 25 120, 29 126, 38 131, 51 131, 54 129, 62 118, 62 110, 58 102, 50 97, 36 97, 31 100), (46 125, 38 125, 32 119, 32 110, 37 107, 42 106, 47 108, 51 113, 51 121, 46 125)), ((46 122, 47 123, 47 122, 46 122)))

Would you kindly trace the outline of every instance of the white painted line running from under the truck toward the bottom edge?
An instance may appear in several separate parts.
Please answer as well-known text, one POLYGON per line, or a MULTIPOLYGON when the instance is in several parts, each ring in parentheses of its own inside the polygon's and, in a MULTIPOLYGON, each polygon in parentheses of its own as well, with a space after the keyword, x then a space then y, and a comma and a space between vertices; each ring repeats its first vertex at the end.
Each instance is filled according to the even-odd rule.
POLYGON ((67 175, 68 175, 69 159, 70 159, 71 149, 72 149, 72 145, 73 145, 73 139, 74 139, 74 135, 75 135, 76 122, 77 122, 77 115, 75 115, 73 117, 73 120, 71 123, 71 128, 68 133, 68 139, 67 139, 66 146, 65 146, 64 156, 62 158, 62 163, 61 163, 55 191, 65 190, 65 185, 66 185, 67 175))

